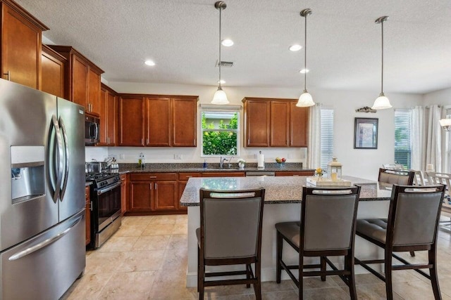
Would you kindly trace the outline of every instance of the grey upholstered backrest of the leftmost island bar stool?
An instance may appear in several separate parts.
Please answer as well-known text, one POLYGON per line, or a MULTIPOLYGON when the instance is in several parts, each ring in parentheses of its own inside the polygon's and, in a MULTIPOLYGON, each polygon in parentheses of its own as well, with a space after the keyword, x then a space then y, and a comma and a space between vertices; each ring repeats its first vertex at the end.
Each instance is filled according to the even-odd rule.
POLYGON ((205 259, 257 256, 261 243, 264 189, 200 191, 205 259))

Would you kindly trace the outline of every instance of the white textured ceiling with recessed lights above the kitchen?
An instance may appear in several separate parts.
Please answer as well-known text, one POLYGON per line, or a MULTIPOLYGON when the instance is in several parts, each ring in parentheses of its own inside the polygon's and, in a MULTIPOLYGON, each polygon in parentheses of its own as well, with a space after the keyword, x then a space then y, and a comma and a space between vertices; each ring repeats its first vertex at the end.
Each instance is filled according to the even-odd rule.
MULTIPOLYGON (((218 80, 219 12, 214 0, 16 0, 99 65, 108 81, 201 84, 218 80), (154 67, 144 65, 152 59, 154 67)), ((222 48, 225 86, 302 89, 303 8, 309 89, 378 91, 384 24, 386 92, 427 93, 451 86, 450 0, 226 0, 222 48)))

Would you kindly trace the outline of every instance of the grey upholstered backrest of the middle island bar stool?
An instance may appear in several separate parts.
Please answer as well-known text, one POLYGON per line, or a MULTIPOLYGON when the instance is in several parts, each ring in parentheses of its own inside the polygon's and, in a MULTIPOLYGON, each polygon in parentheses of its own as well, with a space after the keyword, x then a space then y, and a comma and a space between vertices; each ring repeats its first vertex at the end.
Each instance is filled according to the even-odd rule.
POLYGON ((357 186, 303 188, 300 236, 305 251, 352 247, 359 191, 357 186))

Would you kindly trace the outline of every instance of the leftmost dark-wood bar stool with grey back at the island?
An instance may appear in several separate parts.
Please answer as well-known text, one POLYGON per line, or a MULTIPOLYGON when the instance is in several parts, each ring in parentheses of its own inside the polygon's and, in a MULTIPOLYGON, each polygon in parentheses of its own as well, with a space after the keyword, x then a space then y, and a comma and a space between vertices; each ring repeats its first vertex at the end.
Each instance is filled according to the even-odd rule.
POLYGON ((197 235, 197 291, 204 299, 205 287, 254 286, 261 299, 261 219, 264 188, 219 191, 200 189, 200 227, 197 235), (255 273, 252 271, 254 264, 255 273), (245 265, 245 270, 206 272, 206 266, 245 265), (206 280, 216 276, 245 278, 206 280))

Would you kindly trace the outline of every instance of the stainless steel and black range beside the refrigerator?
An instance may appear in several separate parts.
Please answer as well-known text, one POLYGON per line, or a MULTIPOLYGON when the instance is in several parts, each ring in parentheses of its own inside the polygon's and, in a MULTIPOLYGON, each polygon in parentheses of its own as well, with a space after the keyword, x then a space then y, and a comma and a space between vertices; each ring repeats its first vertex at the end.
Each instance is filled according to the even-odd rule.
POLYGON ((121 227, 121 178, 117 173, 86 174, 91 181, 91 243, 101 247, 121 227))

